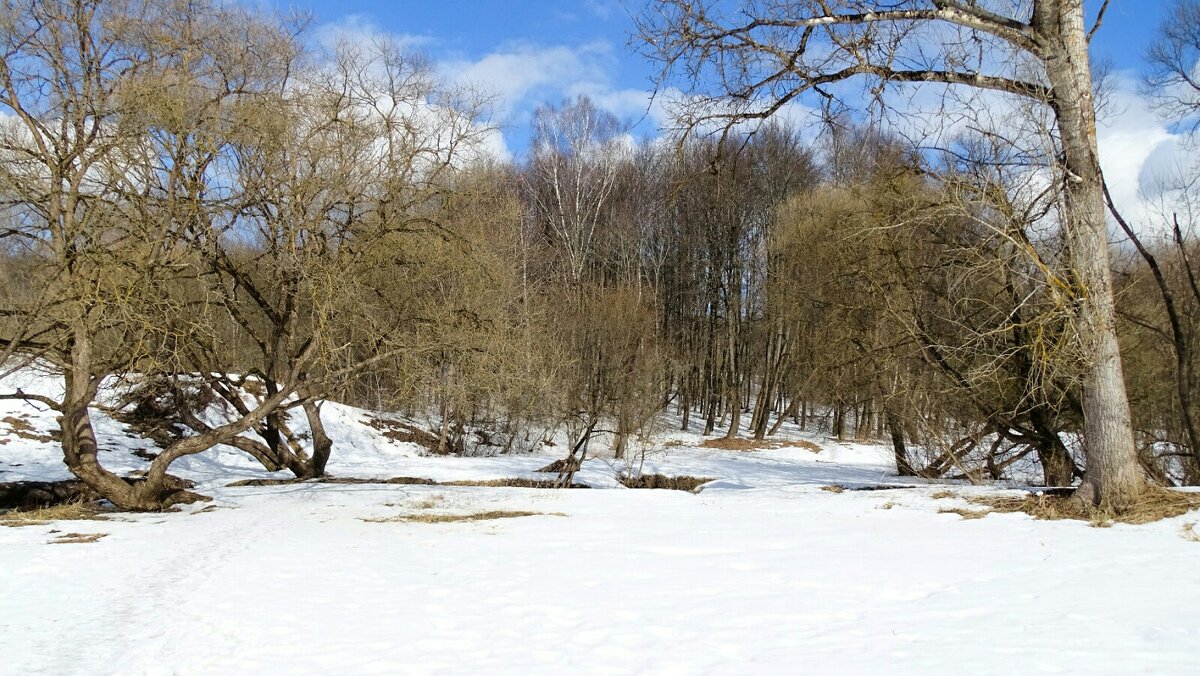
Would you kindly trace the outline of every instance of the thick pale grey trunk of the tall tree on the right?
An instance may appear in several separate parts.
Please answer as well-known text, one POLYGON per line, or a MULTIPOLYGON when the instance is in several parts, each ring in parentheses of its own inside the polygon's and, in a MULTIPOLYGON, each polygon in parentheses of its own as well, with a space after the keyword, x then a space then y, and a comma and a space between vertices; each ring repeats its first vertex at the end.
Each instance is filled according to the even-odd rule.
POLYGON ((1073 275, 1075 328, 1088 358, 1081 400, 1087 468, 1078 495, 1094 505, 1122 510, 1138 499, 1144 480, 1117 346, 1082 0, 1039 2, 1034 28, 1060 38, 1046 41, 1051 53, 1045 66, 1064 160, 1063 232, 1073 275))

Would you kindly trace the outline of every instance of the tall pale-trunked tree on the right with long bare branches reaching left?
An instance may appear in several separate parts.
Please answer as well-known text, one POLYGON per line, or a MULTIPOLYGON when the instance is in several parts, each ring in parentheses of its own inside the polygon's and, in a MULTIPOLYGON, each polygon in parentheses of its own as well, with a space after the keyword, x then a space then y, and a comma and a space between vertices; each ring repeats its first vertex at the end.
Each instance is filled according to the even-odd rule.
POLYGON ((686 94, 685 133, 766 120, 803 96, 838 101, 841 83, 936 83, 1046 107, 1061 193, 1086 472, 1078 496, 1122 510, 1144 487, 1117 346, 1084 0, 658 0, 638 23, 659 85, 686 94))

